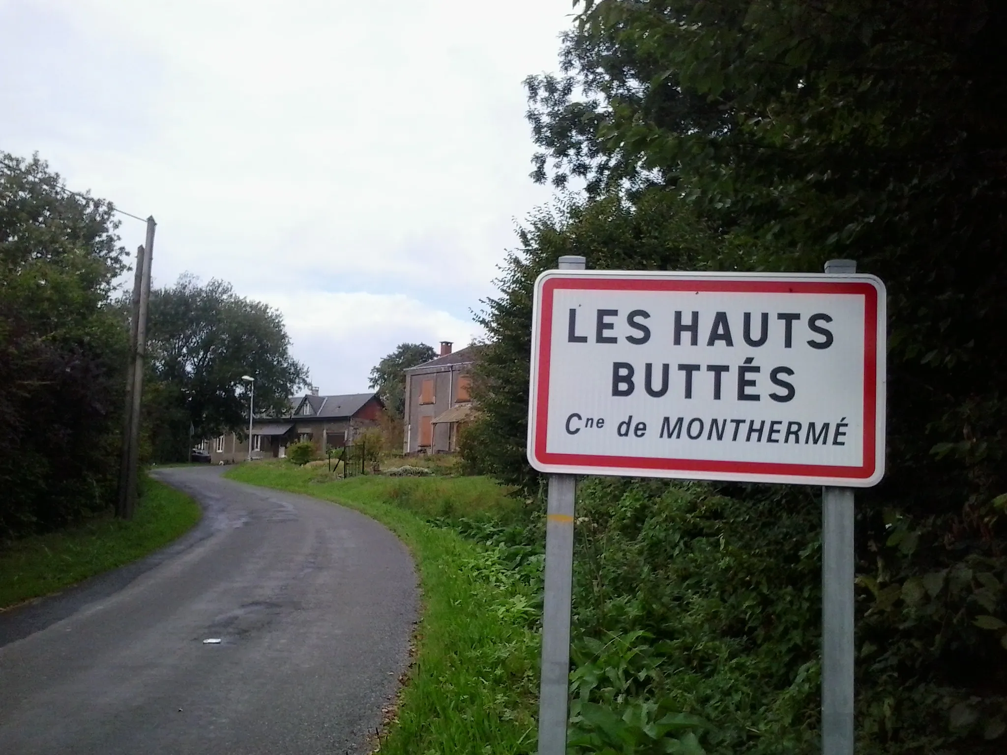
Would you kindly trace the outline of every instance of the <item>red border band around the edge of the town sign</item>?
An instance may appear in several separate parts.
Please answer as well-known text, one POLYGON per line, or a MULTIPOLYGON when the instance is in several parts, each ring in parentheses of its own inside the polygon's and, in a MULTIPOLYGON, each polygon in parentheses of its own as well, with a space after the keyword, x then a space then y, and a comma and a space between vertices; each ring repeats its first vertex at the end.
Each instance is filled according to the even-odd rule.
POLYGON ((837 477, 870 479, 876 468, 877 450, 877 328, 878 292, 869 283, 826 281, 733 281, 645 278, 548 278, 542 285, 539 332, 538 402, 535 417, 535 457, 543 464, 604 469, 661 469, 723 474, 787 475, 793 477, 837 477), (762 294, 840 294, 864 297, 864 437, 863 462, 859 467, 824 464, 775 464, 755 461, 667 459, 649 456, 601 456, 560 454, 546 450, 549 429, 549 368, 552 357, 553 297, 558 289, 602 291, 689 291, 762 294))

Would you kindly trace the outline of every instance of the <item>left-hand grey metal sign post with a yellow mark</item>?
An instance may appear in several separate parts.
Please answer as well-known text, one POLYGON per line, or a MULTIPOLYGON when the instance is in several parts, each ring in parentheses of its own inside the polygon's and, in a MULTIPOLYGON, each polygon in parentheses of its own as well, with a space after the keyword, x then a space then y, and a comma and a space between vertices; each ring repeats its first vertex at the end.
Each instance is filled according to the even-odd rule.
MULTIPOLYGON (((583 257, 561 257, 560 270, 583 270, 583 257)), ((545 604, 542 612, 542 686, 539 755, 566 755, 570 684, 570 594, 573 589, 573 519, 577 478, 549 475, 546 512, 545 604)))

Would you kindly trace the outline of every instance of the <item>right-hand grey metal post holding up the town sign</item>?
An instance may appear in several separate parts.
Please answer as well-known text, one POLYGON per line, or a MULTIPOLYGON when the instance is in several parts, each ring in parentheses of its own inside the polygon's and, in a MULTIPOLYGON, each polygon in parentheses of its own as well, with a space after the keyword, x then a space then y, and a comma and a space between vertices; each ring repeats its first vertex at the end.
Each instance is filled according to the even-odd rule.
MULTIPOLYGON (((857 272, 830 260, 830 275, 857 272)), ((822 488, 822 753, 853 755, 853 489, 822 488)))

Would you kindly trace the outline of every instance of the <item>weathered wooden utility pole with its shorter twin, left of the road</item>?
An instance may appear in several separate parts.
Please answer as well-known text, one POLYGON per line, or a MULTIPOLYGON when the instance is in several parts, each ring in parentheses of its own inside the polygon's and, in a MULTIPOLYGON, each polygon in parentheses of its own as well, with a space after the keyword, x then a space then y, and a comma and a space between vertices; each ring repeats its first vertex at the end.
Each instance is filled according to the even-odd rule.
POLYGON ((136 510, 137 466, 140 463, 140 407, 143 401, 143 365, 147 354, 147 307, 150 301, 150 270, 154 257, 153 216, 147 218, 147 240, 137 250, 137 271, 133 282, 133 311, 130 323, 130 364, 127 369, 126 419, 124 423, 122 467, 116 515, 131 519, 136 510))

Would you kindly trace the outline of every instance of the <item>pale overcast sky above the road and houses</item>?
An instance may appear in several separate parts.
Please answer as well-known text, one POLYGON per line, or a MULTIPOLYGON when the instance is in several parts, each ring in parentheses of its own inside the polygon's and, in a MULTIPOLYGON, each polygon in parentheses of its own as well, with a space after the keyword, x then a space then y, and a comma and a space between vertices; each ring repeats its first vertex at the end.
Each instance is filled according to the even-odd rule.
POLYGON ((400 342, 477 333, 550 200, 521 83, 557 68, 571 4, 0 0, 0 150, 153 214, 155 286, 230 281, 322 393, 363 392, 400 342))

